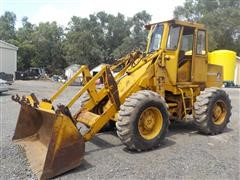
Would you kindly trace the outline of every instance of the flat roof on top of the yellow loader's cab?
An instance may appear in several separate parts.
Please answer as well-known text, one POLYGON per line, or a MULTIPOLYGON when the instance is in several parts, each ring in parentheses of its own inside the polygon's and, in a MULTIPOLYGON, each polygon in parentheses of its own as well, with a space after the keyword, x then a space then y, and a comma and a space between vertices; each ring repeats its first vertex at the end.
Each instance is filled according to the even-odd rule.
POLYGON ((153 24, 147 24, 147 25, 145 25, 145 28, 147 30, 150 30, 152 25, 164 24, 164 23, 177 24, 177 25, 180 25, 180 26, 195 27, 195 28, 198 28, 198 29, 206 29, 204 24, 199 24, 199 23, 195 23, 195 22, 180 21, 180 20, 176 20, 176 19, 171 19, 171 20, 168 20, 168 21, 162 21, 162 22, 153 23, 153 24))

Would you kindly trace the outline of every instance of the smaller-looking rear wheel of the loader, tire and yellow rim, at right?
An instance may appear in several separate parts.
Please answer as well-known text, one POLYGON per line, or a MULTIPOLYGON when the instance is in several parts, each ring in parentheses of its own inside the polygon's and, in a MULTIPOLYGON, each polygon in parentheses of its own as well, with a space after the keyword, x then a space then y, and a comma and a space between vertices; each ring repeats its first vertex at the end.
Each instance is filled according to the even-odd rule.
POLYGON ((231 101, 224 90, 206 88, 194 103, 194 124, 203 134, 222 133, 229 122, 231 108, 231 101))

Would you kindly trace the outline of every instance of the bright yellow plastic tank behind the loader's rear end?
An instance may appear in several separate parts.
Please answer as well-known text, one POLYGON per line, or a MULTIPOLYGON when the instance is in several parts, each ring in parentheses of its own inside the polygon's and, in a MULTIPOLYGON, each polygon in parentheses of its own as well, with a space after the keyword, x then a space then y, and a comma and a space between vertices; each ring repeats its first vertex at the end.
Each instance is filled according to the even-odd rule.
POLYGON ((208 54, 208 62, 223 66, 223 80, 233 81, 237 54, 229 50, 216 50, 208 54))

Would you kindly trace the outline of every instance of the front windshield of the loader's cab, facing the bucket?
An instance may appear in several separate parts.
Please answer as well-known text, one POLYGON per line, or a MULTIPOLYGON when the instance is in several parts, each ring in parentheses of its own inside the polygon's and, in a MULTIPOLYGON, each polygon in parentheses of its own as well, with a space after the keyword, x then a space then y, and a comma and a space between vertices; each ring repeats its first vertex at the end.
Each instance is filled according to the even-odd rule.
POLYGON ((160 48, 161 41, 162 41, 162 33, 163 33, 163 25, 162 24, 155 25, 152 31, 148 52, 153 52, 160 48))

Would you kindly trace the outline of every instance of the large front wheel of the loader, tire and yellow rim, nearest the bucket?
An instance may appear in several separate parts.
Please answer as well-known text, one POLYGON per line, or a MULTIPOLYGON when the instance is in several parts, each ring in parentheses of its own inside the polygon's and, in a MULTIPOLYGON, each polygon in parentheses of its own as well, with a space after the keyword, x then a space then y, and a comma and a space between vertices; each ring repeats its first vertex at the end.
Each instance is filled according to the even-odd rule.
POLYGON ((164 139, 169 126, 165 100, 149 90, 138 91, 121 105, 117 134, 130 150, 149 150, 164 139))

